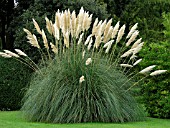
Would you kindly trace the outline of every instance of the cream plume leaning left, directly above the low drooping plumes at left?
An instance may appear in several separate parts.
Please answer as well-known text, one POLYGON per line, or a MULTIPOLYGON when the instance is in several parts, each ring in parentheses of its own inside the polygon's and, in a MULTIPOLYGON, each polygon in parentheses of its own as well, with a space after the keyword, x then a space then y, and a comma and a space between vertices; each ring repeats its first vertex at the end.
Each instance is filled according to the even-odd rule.
POLYGON ((37 47, 37 48, 40 48, 39 44, 38 44, 38 41, 37 41, 37 37, 33 34, 31 34, 31 32, 25 28, 23 28, 24 32, 27 33, 27 39, 29 40, 28 42, 34 46, 34 47, 37 47))

